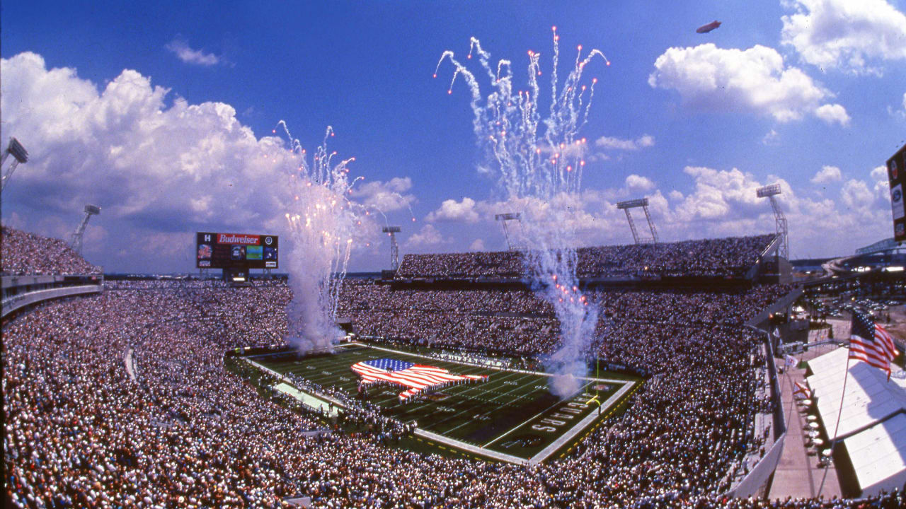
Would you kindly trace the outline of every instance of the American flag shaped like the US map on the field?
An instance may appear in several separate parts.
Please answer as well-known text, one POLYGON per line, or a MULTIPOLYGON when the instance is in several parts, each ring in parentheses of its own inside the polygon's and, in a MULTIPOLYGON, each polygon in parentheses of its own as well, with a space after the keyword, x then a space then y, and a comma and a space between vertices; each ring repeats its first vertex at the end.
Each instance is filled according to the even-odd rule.
POLYGON ((380 383, 409 388, 400 392, 400 402, 421 391, 435 390, 450 384, 487 380, 487 375, 457 375, 434 366, 387 358, 356 362, 352 364, 352 370, 361 377, 360 390, 380 383))

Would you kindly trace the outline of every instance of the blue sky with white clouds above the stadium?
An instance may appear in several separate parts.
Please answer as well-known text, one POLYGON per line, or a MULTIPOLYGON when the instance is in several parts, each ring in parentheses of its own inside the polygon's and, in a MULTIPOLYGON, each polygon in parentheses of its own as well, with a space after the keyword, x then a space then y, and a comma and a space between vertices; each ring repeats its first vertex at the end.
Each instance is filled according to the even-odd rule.
MULTIPOLYGON (((906 143, 904 5, 756 4, 7 1, 0 130, 32 160, 3 220, 68 238, 96 203, 90 261, 190 270, 194 231, 281 233, 281 174, 251 161, 282 150, 269 137, 285 120, 306 148, 333 126, 330 149, 365 177, 353 199, 403 226, 403 253, 501 249, 506 205, 476 169, 466 84, 447 93, 449 62, 431 75, 475 36, 517 83, 541 52, 544 83, 556 25, 561 76, 578 44, 612 62, 585 70, 599 82, 579 244, 631 242, 613 203, 642 196, 667 240, 766 233, 754 188, 776 181, 794 257, 891 236, 877 168, 906 143)), ((352 268, 386 253, 380 235, 357 238, 352 268)))

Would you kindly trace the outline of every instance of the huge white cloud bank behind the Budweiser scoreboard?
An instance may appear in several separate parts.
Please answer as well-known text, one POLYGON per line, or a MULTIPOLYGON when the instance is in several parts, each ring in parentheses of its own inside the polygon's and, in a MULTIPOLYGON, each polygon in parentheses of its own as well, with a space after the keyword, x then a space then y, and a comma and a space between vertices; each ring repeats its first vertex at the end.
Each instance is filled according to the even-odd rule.
POLYGON ((151 271, 174 270, 160 255, 169 251, 185 253, 190 270, 191 232, 285 231, 299 160, 282 139, 255 137, 232 106, 168 104, 168 89, 131 70, 99 87, 35 53, 0 59, 0 75, 0 138, 15 136, 31 155, 4 190, 4 216, 25 229, 65 238, 86 203, 101 206, 86 235, 102 227, 104 242, 86 244, 88 259, 151 271))

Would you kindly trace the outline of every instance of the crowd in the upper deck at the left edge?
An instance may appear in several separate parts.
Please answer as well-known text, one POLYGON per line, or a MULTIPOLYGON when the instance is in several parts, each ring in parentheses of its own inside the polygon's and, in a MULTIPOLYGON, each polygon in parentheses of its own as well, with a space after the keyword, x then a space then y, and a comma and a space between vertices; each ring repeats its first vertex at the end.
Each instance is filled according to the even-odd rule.
POLYGON ((3 226, 0 271, 3 275, 100 274, 60 239, 3 226))

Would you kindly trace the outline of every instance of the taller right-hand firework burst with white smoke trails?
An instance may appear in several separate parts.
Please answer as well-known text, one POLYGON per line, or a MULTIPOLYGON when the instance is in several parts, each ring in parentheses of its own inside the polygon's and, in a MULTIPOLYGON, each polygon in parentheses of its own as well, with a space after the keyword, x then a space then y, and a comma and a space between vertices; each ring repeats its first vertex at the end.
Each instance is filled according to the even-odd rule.
POLYGON ((597 82, 593 79, 591 84, 582 84, 582 78, 585 66, 595 56, 607 65, 610 62, 599 50, 592 50, 583 58, 579 46, 573 69, 560 88, 556 71, 559 36, 556 27, 553 31, 551 105, 544 119, 538 111, 540 53, 528 52, 526 91, 514 92, 511 62, 501 60, 496 68, 492 67, 490 53, 474 37, 467 58, 471 59, 473 52, 477 54, 490 79, 491 91, 487 95, 482 94, 475 74, 458 62, 451 51, 440 56, 434 75, 437 77, 445 60, 453 64, 449 93, 462 75, 471 92, 473 130, 478 144, 486 151, 487 166, 496 171, 506 198, 525 207, 521 231, 525 236, 522 243, 528 248, 526 267, 535 291, 553 305, 563 340, 548 360, 548 369, 557 374, 552 378, 551 390, 568 398, 581 387, 577 377, 587 372, 584 352, 592 341, 598 318, 598 310, 589 305, 579 289, 577 234, 568 199, 582 187, 586 140, 579 136, 579 130, 588 119, 597 82))

